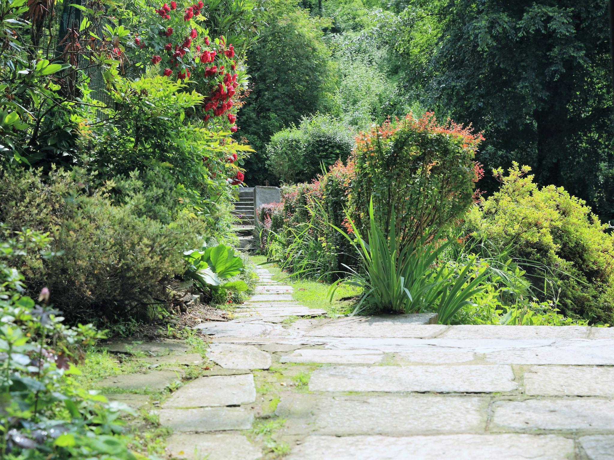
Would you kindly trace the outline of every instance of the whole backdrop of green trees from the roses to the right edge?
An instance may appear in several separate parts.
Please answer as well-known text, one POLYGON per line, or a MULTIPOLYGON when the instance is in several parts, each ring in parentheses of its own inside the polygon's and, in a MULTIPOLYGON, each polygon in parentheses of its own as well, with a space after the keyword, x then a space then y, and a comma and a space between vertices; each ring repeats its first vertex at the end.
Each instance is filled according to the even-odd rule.
MULTIPOLYGON (((252 176, 274 180, 264 146, 303 115, 328 111, 357 131, 432 110, 484 131, 487 172, 527 164, 540 185, 614 217, 606 0, 325 0, 278 3, 272 16, 240 114, 252 176)), ((494 178, 480 187, 491 193, 494 178)))

